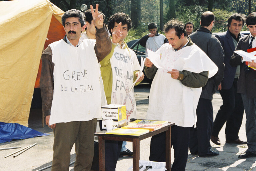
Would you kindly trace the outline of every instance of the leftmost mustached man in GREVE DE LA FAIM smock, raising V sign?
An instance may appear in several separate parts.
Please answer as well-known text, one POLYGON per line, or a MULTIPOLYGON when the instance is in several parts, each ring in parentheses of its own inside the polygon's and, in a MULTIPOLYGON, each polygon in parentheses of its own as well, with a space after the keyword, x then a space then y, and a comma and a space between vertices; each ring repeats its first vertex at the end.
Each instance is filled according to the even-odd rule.
POLYGON ((42 110, 46 124, 54 132, 52 171, 68 170, 74 144, 75 170, 91 170, 96 118, 101 115, 98 62, 111 50, 111 40, 103 17, 98 13, 98 4, 92 16, 96 43, 95 40, 81 42, 85 16, 71 9, 62 16, 65 37, 51 43, 42 53, 42 110))

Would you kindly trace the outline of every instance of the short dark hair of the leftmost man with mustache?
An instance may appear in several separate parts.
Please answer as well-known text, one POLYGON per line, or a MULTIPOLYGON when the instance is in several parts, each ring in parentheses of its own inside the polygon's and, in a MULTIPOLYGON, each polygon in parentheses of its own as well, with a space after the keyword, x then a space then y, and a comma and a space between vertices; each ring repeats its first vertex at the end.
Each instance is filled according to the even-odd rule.
POLYGON ((79 11, 77 9, 71 9, 71 10, 66 11, 61 17, 62 25, 64 27, 65 27, 66 18, 70 18, 70 17, 77 17, 79 22, 81 23, 81 27, 84 26, 84 24, 85 24, 84 13, 82 13, 81 11, 79 11))

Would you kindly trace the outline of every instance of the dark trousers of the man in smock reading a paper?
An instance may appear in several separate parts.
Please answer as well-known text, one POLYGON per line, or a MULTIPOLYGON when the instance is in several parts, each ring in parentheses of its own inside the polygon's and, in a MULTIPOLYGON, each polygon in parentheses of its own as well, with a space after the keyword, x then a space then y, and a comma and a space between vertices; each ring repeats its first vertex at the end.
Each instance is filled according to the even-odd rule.
MULTIPOLYGON (((185 170, 188 155, 190 128, 172 126, 172 146, 174 149, 174 162, 172 171, 185 170)), ((165 162, 165 132, 152 136, 150 142, 150 161, 165 162)))

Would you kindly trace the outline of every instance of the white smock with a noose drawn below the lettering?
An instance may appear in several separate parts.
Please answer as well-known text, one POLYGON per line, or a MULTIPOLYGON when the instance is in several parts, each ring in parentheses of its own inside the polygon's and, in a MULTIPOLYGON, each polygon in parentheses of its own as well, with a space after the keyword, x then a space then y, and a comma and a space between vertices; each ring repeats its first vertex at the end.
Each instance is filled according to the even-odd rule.
POLYGON ((134 90, 129 92, 129 88, 134 81, 134 71, 140 70, 139 61, 125 44, 125 48, 114 48, 110 63, 113 73, 111 104, 126 105, 126 119, 130 122, 130 118, 137 118, 134 90))

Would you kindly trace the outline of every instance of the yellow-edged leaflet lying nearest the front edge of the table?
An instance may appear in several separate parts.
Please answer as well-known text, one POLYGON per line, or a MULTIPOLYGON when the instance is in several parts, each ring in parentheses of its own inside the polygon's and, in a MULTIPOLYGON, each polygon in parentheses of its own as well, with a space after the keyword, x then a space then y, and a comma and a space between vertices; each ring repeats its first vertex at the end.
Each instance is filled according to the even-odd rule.
POLYGON ((148 133, 149 130, 143 130, 143 129, 122 129, 122 128, 116 128, 111 131, 107 131, 106 134, 118 134, 118 135, 135 135, 139 136, 145 133, 148 133))

